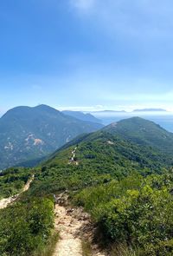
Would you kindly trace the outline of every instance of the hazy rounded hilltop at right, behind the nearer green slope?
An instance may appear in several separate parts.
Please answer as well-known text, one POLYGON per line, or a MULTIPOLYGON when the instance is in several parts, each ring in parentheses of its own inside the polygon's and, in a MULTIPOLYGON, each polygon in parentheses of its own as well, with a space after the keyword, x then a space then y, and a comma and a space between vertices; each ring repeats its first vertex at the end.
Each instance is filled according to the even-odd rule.
POLYGON ((157 148, 166 154, 172 154, 173 152, 173 134, 153 121, 132 117, 112 123, 104 130, 112 135, 120 135, 125 140, 140 146, 157 148))

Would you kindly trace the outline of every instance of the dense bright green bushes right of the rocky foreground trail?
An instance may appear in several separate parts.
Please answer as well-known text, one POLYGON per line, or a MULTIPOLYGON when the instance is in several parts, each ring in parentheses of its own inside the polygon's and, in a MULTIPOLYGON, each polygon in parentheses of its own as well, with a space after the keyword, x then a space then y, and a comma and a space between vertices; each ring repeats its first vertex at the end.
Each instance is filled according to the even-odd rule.
POLYGON ((133 175, 88 187, 75 196, 75 202, 117 245, 138 247, 138 255, 172 255, 172 189, 173 174, 133 175))

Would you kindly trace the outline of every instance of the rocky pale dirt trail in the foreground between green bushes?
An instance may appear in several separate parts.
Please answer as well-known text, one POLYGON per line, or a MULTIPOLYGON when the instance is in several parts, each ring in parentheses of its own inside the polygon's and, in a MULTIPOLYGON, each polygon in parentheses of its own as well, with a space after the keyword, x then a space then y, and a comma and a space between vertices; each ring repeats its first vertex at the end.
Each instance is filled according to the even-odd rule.
MULTIPOLYGON (((82 256, 82 240, 93 240, 93 225, 81 208, 55 206, 55 229, 60 232, 53 256, 82 256)), ((92 256, 107 256, 92 245, 92 256)))

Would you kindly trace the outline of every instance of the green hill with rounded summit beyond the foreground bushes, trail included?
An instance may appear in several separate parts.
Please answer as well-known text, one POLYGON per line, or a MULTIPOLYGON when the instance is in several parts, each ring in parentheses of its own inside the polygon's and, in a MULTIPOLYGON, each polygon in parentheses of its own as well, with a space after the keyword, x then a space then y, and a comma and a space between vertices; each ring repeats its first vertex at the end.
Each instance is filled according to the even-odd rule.
POLYGON ((119 121, 93 134, 79 136, 52 154, 42 163, 35 189, 40 194, 53 193, 121 180, 132 173, 161 174, 164 168, 173 165, 171 140, 172 134, 151 121, 119 121), (74 148, 75 159, 71 161, 74 148))

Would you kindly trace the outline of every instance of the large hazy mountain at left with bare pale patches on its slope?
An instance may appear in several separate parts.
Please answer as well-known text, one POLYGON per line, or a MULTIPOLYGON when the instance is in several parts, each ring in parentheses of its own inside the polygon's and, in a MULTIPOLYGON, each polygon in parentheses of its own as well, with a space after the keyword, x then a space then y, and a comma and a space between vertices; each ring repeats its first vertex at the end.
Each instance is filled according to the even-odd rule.
POLYGON ((32 167, 75 136, 102 127, 46 105, 10 109, 0 118, 0 169, 32 167))

